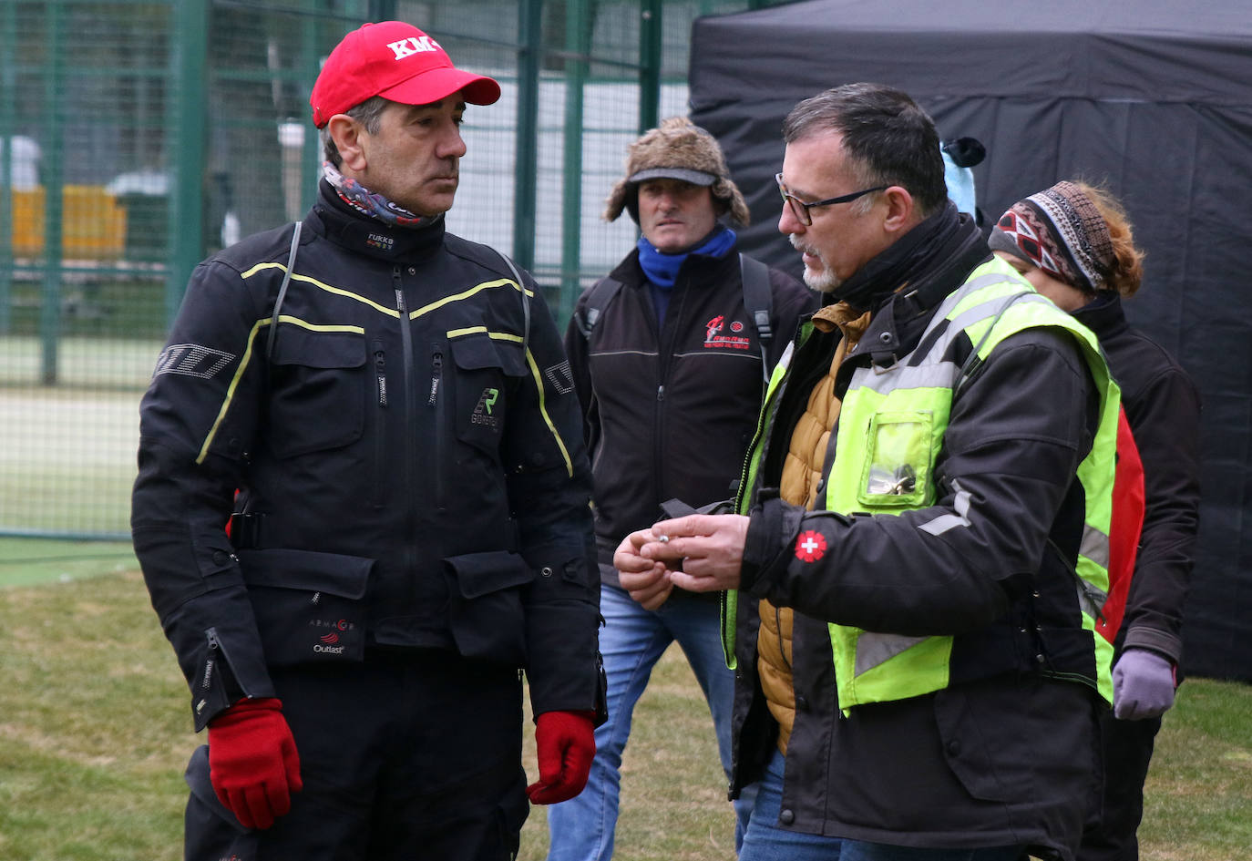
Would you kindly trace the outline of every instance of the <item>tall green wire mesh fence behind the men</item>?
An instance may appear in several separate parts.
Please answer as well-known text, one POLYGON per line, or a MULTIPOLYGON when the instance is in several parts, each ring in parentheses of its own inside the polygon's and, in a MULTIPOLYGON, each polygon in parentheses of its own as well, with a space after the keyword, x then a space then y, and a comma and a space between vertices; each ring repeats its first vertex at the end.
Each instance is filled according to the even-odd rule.
POLYGON ((0 536, 125 538, 138 402, 192 268, 300 218, 308 94, 367 20, 497 78, 449 229, 562 320, 634 242, 626 144, 686 111, 691 23, 757 0, 0 0, 0 536))

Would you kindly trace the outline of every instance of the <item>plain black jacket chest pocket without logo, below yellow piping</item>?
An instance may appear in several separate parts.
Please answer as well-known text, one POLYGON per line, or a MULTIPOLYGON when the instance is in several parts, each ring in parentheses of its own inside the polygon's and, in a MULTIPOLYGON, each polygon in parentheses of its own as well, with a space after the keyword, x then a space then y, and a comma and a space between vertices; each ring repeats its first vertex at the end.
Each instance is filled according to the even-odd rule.
POLYGON ((339 448, 361 438, 371 393, 362 330, 284 325, 269 378, 269 447, 280 458, 339 448))

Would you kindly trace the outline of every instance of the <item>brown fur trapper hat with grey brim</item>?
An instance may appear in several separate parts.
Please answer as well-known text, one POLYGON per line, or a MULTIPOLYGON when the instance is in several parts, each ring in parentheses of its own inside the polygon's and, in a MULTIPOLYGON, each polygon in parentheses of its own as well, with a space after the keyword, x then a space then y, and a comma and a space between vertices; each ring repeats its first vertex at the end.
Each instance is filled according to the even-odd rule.
POLYGON ((730 179, 721 146, 686 116, 661 120, 657 128, 630 145, 626 178, 613 185, 605 201, 605 220, 616 220, 626 209, 637 224, 639 184, 647 179, 681 179, 692 185, 709 186, 719 205, 717 214, 729 211, 732 220, 747 225, 747 204, 730 179))

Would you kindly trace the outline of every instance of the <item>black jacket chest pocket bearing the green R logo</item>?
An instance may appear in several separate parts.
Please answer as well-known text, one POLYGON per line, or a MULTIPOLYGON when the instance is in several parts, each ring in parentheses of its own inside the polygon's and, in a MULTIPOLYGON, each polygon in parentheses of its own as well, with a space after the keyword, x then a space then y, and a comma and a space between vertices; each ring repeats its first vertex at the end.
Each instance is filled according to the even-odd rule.
POLYGON ((526 374, 521 344, 487 334, 451 343, 456 363, 454 427, 457 438, 495 453, 505 433, 508 399, 526 374))

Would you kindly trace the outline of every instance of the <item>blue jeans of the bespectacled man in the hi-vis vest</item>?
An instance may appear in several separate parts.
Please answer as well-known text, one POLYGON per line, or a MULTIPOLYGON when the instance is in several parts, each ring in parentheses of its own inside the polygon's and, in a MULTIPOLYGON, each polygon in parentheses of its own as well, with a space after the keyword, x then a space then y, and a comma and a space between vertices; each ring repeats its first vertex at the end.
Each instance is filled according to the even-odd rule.
POLYGON ((1022 846, 918 848, 788 831, 777 825, 782 806, 782 753, 775 751, 756 785, 739 861, 1024 861, 1022 846))

